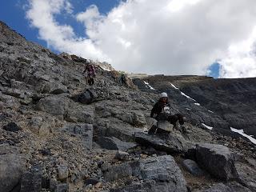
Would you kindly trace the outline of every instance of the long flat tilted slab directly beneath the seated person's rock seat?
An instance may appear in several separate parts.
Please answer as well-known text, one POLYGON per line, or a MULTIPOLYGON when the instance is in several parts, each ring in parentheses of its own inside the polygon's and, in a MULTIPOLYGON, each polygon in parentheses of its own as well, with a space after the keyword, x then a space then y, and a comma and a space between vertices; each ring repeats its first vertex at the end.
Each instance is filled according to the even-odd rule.
POLYGON ((186 151, 186 143, 179 138, 159 138, 157 135, 135 133, 135 141, 142 146, 152 146, 155 150, 166 151, 167 153, 180 153, 186 151))

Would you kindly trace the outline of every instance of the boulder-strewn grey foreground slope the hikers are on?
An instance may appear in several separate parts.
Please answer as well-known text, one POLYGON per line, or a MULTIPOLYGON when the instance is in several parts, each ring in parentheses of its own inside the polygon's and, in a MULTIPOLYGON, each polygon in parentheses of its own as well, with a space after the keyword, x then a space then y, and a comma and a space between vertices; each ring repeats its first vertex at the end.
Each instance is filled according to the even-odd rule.
POLYGON ((0 22, 0 192, 256 190, 254 144, 201 124, 225 129, 220 115, 170 85, 172 110, 187 115, 188 133, 163 122, 148 134, 166 84, 141 91, 128 79, 122 86, 117 71, 90 61, 97 70, 90 87, 86 62, 27 42, 0 22))

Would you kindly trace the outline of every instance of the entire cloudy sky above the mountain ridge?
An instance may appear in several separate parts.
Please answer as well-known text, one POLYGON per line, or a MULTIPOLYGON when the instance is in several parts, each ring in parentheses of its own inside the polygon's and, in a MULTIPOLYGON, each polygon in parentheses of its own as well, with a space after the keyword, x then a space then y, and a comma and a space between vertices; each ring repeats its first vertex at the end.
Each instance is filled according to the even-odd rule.
POLYGON ((8 0, 26 39, 116 70, 256 77, 255 0, 8 0))

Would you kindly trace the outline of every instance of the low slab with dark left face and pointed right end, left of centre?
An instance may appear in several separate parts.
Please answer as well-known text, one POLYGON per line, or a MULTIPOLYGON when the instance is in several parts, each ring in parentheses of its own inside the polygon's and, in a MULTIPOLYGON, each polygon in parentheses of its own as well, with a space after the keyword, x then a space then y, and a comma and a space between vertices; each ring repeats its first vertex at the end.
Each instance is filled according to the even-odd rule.
POLYGON ((130 148, 137 146, 137 144, 134 142, 122 142, 118 138, 114 138, 114 137, 98 138, 98 144, 108 150, 123 150, 123 151, 129 150, 130 148))

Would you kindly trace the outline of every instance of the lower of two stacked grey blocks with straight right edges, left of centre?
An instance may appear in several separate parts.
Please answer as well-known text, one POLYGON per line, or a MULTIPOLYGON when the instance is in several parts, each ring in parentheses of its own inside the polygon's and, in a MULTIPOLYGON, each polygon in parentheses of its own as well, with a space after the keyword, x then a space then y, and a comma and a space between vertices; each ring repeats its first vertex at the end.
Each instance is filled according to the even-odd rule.
POLYGON ((93 146, 93 134, 94 134, 94 127, 92 124, 85 124, 85 123, 68 123, 62 127, 62 131, 68 132, 70 134, 77 134, 82 138, 82 142, 84 146, 91 150, 93 146))

